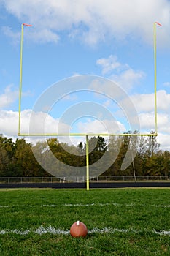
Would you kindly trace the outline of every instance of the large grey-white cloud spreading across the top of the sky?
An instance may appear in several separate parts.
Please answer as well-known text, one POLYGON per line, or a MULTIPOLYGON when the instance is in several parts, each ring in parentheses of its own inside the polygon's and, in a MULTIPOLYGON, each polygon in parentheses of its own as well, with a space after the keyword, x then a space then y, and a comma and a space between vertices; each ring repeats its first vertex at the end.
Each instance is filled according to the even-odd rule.
MULTIPOLYGON (((152 24, 163 24, 158 33, 162 45, 169 45, 170 2, 168 0, 3 0, 6 10, 34 25, 37 33, 57 42, 58 32, 66 30, 69 37, 78 37, 93 45, 106 38, 142 38, 152 44, 152 24), (38 32, 39 31, 39 32, 38 32)), ((39 38, 37 34, 37 38, 39 38)), ((34 34, 36 37, 36 33, 34 34)), ((40 37, 42 38, 42 36, 40 37)))

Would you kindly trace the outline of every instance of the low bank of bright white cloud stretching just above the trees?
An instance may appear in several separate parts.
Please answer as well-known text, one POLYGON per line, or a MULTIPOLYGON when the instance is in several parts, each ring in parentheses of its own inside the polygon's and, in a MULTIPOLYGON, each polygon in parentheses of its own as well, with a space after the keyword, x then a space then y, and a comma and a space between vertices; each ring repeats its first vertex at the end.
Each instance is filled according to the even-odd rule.
MULTIPOLYGON (((29 131, 30 126, 31 110, 23 110, 21 113, 21 133, 69 133, 72 132, 72 127, 67 124, 59 122, 59 119, 55 119, 47 113, 35 113, 35 119, 33 121, 33 129, 29 131), (45 121, 44 127, 41 124, 45 121), (59 129, 58 129, 59 127, 59 129)), ((155 128, 155 116, 154 113, 141 113, 139 115, 141 129, 146 133, 150 133, 155 128)), ((77 132, 81 133, 121 133, 125 132, 125 127, 120 121, 116 120, 91 120, 90 118, 86 121, 78 121, 77 132)), ((18 112, 12 110, 1 110, 0 111, 0 130, 4 136, 8 138, 17 138, 18 136, 18 112)), ((37 140, 44 138, 29 138, 28 142, 35 143, 37 140)), ((65 136, 59 137, 59 140, 65 143, 72 143, 77 145, 80 141, 84 142, 83 137, 65 136)), ((158 142, 161 143, 161 149, 170 150, 170 116, 167 113, 158 113, 158 142)))

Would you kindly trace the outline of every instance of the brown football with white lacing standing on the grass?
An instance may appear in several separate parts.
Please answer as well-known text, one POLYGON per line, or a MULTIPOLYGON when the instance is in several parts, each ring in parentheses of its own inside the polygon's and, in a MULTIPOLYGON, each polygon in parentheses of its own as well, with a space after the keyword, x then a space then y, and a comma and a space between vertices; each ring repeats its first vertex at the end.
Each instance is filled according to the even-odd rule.
POLYGON ((85 237, 88 234, 88 228, 84 223, 77 220, 77 222, 74 222, 70 227, 70 234, 73 237, 85 237))

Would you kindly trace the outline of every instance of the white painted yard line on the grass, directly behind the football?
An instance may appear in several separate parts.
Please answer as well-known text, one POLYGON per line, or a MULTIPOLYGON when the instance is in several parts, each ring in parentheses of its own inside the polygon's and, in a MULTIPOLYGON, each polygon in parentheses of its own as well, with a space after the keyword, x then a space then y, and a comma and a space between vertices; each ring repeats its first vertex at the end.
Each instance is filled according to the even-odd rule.
MULTIPOLYGON (((134 230, 133 228, 129 228, 129 229, 119 229, 119 228, 110 228, 110 227, 104 227, 102 229, 98 228, 98 227, 93 227, 92 230, 88 230, 88 233, 93 234, 93 233, 141 233, 142 231, 144 232, 152 232, 155 233, 159 236, 170 236, 170 230, 160 230, 160 231, 156 231, 156 230, 134 230)), ((0 230, 0 235, 5 235, 5 234, 9 234, 9 233, 15 233, 17 235, 21 235, 21 236, 26 236, 28 235, 28 233, 36 233, 38 235, 42 235, 42 234, 46 234, 46 233, 50 233, 50 234, 54 234, 54 235, 69 235, 69 230, 62 230, 61 228, 55 228, 55 227, 43 227, 40 226, 38 228, 36 228, 36 230, 33 229, 27 229, 27 230, 0 230)))

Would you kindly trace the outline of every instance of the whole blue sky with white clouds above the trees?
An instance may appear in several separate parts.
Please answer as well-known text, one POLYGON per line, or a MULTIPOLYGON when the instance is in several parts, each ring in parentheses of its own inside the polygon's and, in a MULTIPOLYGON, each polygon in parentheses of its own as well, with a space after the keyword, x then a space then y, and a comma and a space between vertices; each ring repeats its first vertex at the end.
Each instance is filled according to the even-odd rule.
MULTIPOLYGON (((134 103, 140 132, 150 132, 155 127, 155 21, 162 24, 156 27, 158 141, 162 149, 170 150, 168 0, 0 0, 0 132, 10 138, 17 138, 18 134, 22 23, 30 23, 32 27, 24 26, 21 132, 28 132, 29 118, 37 99, 54 84, 62 94, 62 81, 69 88, 74 77, 76 82, 76 75, 98 76, 116 82, 134 103)), ((62 123, 64 132, 106 132, 112 126, 118 127, 120 132, 134 129, 135 125, 129 126, 127 118, 123 116, 123 111, 128 111, 128 105, 120 110, 122 103, 118 102, 120 105, 117 107, 108 97, 112 89, 106 88, 107 96, 101 96, 87 86, 86 91, 75 91, 74 86, 71 87, 72 92, 66 96, 63 94, 55 105, 50 106, 50 112, 45 112, 45 130, 54 132, 58 123, 62 123), (92 104, 93 114, 89 112, 85 115, 85 105, 82 104, 82 116, 80 113, 74 116, 71 124, 64 122, 62 115, 65 112, 70 115, 69 109, 74 105, 79 110, 81 102, 92 104), (97 105, 98 113, 95 110, 97 105), (108 118, 109 112, 112 113, 112 120, 108 118)), ((39 132, 37 127, 42 124, 42 112, 47 107, 45 102, 43 104, 41 113, 36 115, 36 132, 39 132)), ((74 111, 78 113, 76 108, 74 111)), ((77 143, 77 138, 72 138, 72 142, 77 143)))

